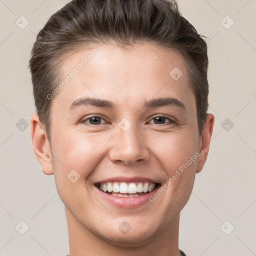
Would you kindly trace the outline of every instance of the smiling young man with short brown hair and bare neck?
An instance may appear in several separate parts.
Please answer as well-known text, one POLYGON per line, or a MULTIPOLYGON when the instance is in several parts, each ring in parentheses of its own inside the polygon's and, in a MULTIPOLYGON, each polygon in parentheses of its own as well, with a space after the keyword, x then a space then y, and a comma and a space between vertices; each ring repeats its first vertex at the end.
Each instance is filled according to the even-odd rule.
POLYGON ((207 46, 169 0, 73 0, 29 62, 32 146, 54 174, 70 256, 178 256, 209 150, 207 46))

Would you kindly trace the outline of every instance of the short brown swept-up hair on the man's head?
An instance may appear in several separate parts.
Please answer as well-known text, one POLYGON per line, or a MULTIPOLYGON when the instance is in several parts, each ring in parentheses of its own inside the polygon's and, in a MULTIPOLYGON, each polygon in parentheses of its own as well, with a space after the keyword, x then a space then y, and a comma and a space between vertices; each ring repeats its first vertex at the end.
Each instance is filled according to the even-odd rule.
POLYGON ((47 94, 59 82, 61 57, 78 47, 110 40, 119 46, 154 42, 182 54, 201 134, 208 108, 207 44, 202 37, 181 15, 175 0, 70 1, 39 31, 29 60, 35 107, 48 139, 51 100, 47 94))

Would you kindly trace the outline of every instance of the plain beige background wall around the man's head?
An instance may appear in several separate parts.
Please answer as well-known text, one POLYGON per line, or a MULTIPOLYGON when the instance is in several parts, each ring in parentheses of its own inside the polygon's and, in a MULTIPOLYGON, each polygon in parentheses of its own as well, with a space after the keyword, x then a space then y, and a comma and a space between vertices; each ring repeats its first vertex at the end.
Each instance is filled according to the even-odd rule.
MULTIPOLYGON (((0 255, 68 253, 63 204, 25 126, 34 112, 27 62, 35 34, 67 2, 0 0, 0 255), (21 15, 29 21, 23 29, 21 15), (24 234, 15 228, 21 220, 29 226, 24 234)), ((181 212, 179 247, 188 256, 256 255, 256 0, 178 3, 208 37, 209 112, 215 115, 207 162, 181 212)))

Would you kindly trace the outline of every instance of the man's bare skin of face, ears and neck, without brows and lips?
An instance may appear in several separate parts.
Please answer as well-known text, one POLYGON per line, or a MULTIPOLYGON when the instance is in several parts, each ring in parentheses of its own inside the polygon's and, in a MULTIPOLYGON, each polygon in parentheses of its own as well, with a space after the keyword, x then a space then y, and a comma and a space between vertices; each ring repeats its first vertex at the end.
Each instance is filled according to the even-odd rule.
MULTIPOLYGON (((180 210, 191 194, 195 173, 205 163, 214 116, 207 115, 199 136, 195 96, 180 53, 145 42, 125 48, 104 43, 97 48, 99 53, 52 99, 51 144, 38 116, 30 120, 35 156, 43 173, 54 174, 65 205, 70 256, 178 256, 180 210), (178 80, 169 75, 174 67, 183 73, 178 80), (107 99, 116 108, 69 109, 81 97, 107 99), (145 100, 160 97, 176 98, 185 109, 142 107, 145 100), (159 115, 166 118, 157 122, 159 115), (90 124, 92 116, 103 119, 90 124), (123 118, 131 124, 125 132, 118 126, 123 118), (154 202, 137 208, 109 204, 93 185, 117 175, 144 176, 164 184, 197 151, 200 156, 154 202), (72 169, 80 175, 74 183, 66 177, 72 169), (127 233, 118 229, 122 221, 131 226, 127 233)), ((67 55, 60 69, 63 77, 92 50, 67 55)))

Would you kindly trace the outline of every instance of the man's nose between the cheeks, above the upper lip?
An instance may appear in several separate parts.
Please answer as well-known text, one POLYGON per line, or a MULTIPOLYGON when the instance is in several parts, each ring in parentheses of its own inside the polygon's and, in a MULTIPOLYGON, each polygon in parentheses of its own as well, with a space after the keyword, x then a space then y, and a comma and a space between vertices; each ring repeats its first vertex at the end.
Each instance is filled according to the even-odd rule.
POLYGON ((146 142, 143 141, 143 136, 141 136, 141 133, 134 126, 131 125, 126 131, 117 127, 117 134, 111 140, 111 148, 109 150, 111 161, 132 164, 149 159, 150 150, 146 142))

